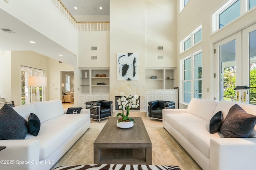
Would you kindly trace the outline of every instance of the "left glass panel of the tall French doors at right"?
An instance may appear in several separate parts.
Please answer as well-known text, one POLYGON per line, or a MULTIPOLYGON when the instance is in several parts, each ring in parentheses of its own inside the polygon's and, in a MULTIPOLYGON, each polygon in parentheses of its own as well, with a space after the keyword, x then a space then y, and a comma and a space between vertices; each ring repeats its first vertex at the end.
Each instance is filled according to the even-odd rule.
POLYGON ((216 47, 216 100, 236 98, 234 88, 242 86, 242 50, 241 32, 238 32, 218 43, 216 47))

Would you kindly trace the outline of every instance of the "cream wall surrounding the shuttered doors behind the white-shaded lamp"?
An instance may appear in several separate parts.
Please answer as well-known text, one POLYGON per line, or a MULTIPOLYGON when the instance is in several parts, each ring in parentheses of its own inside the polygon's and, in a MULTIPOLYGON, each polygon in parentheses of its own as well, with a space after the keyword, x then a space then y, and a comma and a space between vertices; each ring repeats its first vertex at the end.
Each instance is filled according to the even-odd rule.
MULTIPOLYGON (((33 51, 11 51, 11 86, 9 88, 11 89, 11 100, 14 100, 15 106, 21 105, 20 66, 45 70, 45 76, 48 78, 48 57, 33 51)), ((48 85, 45 89, 45 97, 48 100, 48 85)))

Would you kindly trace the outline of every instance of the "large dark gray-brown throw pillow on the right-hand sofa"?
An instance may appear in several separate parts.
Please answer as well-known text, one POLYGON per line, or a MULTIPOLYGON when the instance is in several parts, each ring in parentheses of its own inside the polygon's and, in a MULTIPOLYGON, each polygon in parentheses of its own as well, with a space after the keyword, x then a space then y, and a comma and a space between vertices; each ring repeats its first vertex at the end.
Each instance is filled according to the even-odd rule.
POLYGON ((224 137, 248 137, 256 124, 256 116, 246 113, 242 107, 235 104, 220 127, 224 137))

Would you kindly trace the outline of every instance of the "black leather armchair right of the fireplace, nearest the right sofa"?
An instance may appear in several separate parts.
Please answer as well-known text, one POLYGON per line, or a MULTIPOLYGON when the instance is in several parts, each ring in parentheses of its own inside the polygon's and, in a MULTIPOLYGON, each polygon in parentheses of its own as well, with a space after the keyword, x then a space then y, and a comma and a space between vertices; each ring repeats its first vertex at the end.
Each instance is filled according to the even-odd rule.
POLYGON ((163 109, 174 109, 175 102, 164 101, 164 100, 155 100, 148 102, 148 113, 149 118, 151 119, 163 119, 163 109))

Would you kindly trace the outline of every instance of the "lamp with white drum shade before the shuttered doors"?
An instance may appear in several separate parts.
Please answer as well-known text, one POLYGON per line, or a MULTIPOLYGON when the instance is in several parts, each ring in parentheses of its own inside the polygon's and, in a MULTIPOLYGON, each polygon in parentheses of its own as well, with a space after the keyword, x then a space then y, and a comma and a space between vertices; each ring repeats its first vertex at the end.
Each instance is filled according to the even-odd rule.
POLYGON ((47 78, 43 76, 28 76, 28 86, 36 87, 36 102, 40 102, 39 87, 46 87, 47 78))

